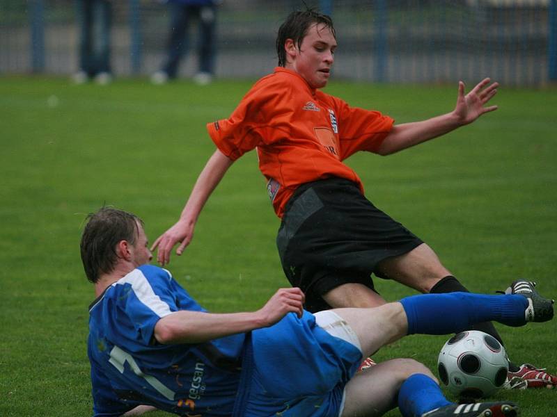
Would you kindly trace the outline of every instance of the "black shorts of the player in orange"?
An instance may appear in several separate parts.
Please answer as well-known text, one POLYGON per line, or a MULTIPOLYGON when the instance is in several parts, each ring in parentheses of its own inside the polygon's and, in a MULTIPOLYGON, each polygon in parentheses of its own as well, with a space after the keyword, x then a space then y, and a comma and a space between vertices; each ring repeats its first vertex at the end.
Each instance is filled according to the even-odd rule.
MULTIPOLYGON (((276 245, 288 281, 306 294, 306 309, 331 306, 322 295, 346 283, 374 289, 383 259, 423 241, 364 197, 356 183, 331 178, 306 183, 290 198, 276 245)), ((388 277, 382 277, 388 278, 388 277)))

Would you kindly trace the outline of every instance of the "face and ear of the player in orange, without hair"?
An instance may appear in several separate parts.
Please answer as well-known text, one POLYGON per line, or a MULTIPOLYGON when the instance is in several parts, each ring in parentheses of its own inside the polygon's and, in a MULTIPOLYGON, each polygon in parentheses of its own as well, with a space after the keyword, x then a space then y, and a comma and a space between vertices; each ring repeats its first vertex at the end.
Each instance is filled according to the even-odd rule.
POLYGON ((327 85, 336 49, 331 29, 324 24, 313 24, 299 48, 292 40, 287 40, 285 47, 290 58, 285 67, 295 70, 312 88, 327 85))

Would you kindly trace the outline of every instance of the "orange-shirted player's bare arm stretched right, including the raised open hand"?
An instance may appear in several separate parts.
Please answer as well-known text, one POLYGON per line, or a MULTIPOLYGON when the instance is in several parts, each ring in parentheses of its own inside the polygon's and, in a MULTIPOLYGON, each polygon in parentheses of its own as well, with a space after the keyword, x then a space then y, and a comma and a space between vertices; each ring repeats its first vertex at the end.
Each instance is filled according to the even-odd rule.
POLYGON ((491 83, 489 79, 484 79, 464 95, 464 83, 460 81, 455 110, 421 122, 396 124, 377 149, 377 154, 394 154, 442 136, 475 121, 484 113, 496 110, 497 106, 486 106, 486 104, 496 94, 498 86, 498 83, 491 83))

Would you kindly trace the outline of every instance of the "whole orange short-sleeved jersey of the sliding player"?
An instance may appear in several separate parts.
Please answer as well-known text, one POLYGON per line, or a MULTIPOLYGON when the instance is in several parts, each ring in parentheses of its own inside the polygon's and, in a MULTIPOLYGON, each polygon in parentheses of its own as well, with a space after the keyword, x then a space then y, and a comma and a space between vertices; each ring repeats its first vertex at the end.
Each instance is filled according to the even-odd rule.
POLYGON ((340 177, 363 185, 342 161, 377 151, 393 119, 310 88, 296 72, 277 67, 260 79, 227 120, 207 124, 220 151, 235 161, 257 149, 274 210, 282 218, 303 183, 340 177))

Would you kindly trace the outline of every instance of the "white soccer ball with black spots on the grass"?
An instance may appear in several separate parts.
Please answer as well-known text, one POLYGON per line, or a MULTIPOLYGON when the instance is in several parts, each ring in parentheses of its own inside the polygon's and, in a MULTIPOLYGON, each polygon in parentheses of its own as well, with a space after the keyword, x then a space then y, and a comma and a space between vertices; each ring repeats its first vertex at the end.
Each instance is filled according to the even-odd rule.
POLYGON ((451 337, 437 359, 441 383, 465 398, 483 398, 498 391, 507 379, 508 366, 501 343, 476 330, 451 337))

